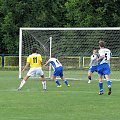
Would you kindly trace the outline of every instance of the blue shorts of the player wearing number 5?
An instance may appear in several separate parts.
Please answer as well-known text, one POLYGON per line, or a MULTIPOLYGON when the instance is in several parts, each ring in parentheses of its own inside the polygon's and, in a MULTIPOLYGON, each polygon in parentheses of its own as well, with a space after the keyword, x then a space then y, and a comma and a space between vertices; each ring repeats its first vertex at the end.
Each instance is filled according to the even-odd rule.
POLYGON ((98 65, 97 71, 99 75, 109 75, 111 73, 110 66, 107 63, 98 65))

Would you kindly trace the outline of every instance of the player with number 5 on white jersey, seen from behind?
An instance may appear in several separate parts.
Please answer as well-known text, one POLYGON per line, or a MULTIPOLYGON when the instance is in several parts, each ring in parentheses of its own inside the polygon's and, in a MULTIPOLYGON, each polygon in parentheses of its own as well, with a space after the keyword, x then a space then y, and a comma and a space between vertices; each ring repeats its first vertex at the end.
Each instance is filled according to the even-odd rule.
POLYGON ((103 82, 102 82, 102 76, 105 75, 105 78, 107 80, 107 86, 108 86, 108 95, 111 94, 111 82, 110 82, 110 58, 111 58, 111 51, 107 48, 105 48, 104 41, 99 41, 99 58, 98 58, 98 75, 99 75, 99 88, 100 92, 99 94, 102 95, 104 93, 103 91, 103 82))

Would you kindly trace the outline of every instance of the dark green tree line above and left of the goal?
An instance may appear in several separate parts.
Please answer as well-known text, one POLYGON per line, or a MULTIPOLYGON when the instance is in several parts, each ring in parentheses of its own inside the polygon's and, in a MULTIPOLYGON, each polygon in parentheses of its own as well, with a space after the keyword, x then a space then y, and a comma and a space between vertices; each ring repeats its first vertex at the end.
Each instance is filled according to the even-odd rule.
POLYGON ((0 0, 0 53, 18 54, 20 27, 119 26, 119 0, 0 0))

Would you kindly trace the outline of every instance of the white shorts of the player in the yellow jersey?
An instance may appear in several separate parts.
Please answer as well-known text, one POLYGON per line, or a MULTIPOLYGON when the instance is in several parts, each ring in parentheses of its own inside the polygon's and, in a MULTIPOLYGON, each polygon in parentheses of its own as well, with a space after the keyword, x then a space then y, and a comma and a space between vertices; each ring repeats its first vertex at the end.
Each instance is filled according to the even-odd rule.
POLYGON ((41 67, 38 67, 38 68, 30 68, 30 70, 28 71, 27 73, 27 76, 34 76, 34 75, 37 75, 37 76, 42 76, 44 75, 43 71, 42 71, 42 68, 41 67))

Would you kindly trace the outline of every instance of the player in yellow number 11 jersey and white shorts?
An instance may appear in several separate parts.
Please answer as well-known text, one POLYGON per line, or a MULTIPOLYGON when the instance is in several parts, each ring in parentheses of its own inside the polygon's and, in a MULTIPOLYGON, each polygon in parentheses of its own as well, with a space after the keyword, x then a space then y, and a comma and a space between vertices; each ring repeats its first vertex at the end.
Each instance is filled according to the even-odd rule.
POLYGON ((30 70, 28 71, 24 79, 21 81, 18 90, 21 90, 21 88, 26 83, 28 78, 30 76, 34 76, 34 74, 41 76, 43 90, 46 90, 46 80, 44 77, 44 73, 42 71, 42 57, 40 54, 37 54, 37 48, 32 49, 32 54, 27 57, 27 63, 24 66, 22 72, 24 72, 29 65, 30 65, 30 70))

